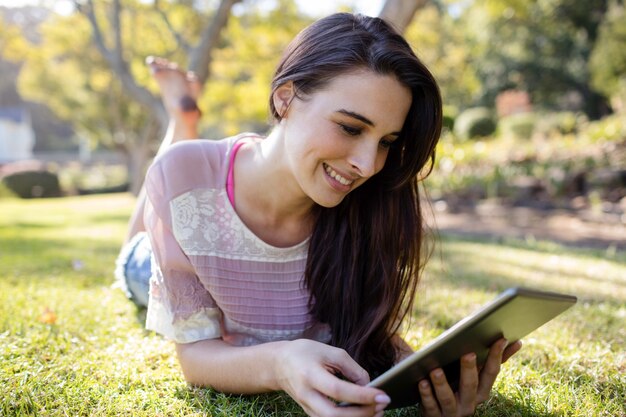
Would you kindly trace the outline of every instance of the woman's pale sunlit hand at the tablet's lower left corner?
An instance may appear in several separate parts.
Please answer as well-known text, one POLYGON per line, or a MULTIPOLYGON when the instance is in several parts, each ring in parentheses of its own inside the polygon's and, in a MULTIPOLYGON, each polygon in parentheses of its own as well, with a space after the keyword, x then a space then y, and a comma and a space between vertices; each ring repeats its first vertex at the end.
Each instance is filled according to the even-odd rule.
POLYGON ((383 391, 363 386, 369 375, 343 349, 294 340, 282 345, 275 366, 280 387, 310 416, 382 416, 390 402, 383 391), (338 407, 335 401, 354 405, 338 407))

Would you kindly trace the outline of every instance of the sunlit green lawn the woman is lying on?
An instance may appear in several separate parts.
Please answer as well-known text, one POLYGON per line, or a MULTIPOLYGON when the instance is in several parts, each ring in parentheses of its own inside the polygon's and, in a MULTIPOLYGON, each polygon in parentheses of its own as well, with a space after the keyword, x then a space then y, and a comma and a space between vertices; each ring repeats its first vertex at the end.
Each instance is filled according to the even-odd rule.
MULTIPOLYGON (((280 393, 187 387, 171 344, 111 286, 132 204, 0 200, 0 415, 302 415, 280 393)), ((415 347, 512 285, 581 299, 525 339, 477 416, 626 416, 626 254, 443 236, 428 272, 415 347)))

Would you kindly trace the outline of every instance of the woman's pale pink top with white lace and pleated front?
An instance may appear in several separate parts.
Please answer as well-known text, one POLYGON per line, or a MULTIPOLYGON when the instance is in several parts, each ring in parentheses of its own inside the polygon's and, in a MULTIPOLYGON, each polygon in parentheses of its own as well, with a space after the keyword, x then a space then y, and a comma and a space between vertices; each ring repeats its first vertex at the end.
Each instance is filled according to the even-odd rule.
POLYGON ((309 314, 303 286, 308 241, 265 243, 229 201, 233 146, 251 136, 180 142, 150 167, 144 219, 154 260, 146 327, 178 343, 328 342, 328 326, 309 314))

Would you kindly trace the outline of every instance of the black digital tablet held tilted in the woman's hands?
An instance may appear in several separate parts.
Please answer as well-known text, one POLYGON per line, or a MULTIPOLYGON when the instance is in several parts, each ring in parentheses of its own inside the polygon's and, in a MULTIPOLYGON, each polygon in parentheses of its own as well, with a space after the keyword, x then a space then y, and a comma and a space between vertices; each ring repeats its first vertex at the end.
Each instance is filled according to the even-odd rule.
POLYGON ((387 409, 414 405, 420 401, 418 382, 427 378, 433 369, 442 368, 456 391, 461 356, 474 352, 477 364, 481 365, 487 359, 489 347, 501 337, 509 344, 514 343, 575 303, 576 297, 572 295, 509 288, 374 379, 369 386, 380 388, 391 397, 387 409))

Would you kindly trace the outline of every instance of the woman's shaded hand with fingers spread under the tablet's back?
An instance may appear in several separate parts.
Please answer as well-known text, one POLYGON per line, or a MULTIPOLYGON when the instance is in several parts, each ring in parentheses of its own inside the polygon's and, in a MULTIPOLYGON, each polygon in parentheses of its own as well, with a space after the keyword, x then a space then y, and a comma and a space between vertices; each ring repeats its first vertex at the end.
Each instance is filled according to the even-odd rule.
POLYGON ((500 372, 500 364, 506 362, 522 347, 521 342, 513 343, 509 347, 506 345, 505 339, 494 343, 489 350, 487 362, 480 369, 476 366, 474 353, 462 356, 459 391, 456 393, 448 385, 443 371, 433 370, 430 373, 430 383, 425 379, 419 383, 422 415, 425 417, 472 415, 478 404, 489 399, 491 387, 500 372))

